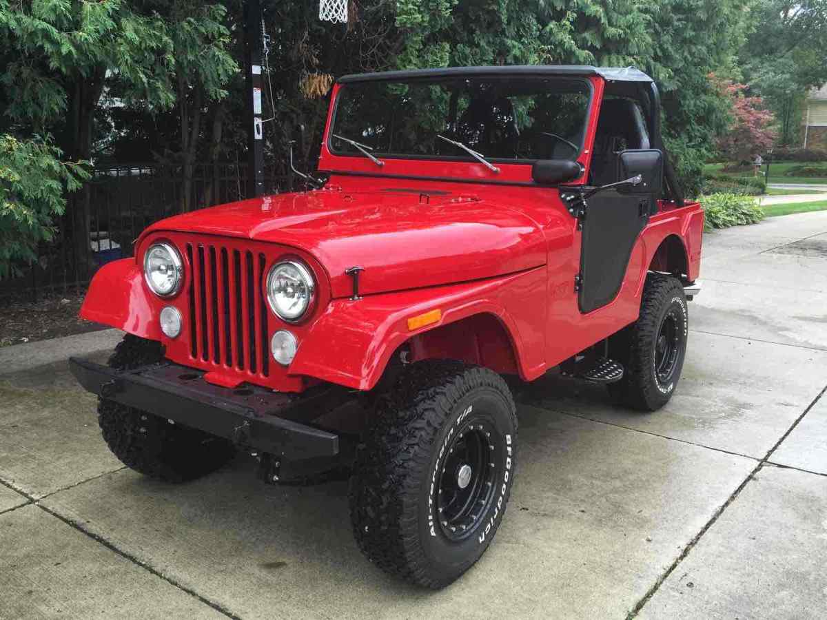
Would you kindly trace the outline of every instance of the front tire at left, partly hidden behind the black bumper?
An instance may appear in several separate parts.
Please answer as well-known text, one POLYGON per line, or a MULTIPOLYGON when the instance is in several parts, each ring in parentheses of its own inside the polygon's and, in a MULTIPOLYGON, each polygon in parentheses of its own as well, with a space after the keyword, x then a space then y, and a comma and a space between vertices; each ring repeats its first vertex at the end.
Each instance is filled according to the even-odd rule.
MULTIPOLYGON (((129 370, 162 359, 160 342, 127 334, 108 365, 129 370)), ((124 465, 167 482, 184 482, 208 474, 234 453, 226 439, 172 424, 106 398, 98 398, 98 424, 109 449, 124 465)))

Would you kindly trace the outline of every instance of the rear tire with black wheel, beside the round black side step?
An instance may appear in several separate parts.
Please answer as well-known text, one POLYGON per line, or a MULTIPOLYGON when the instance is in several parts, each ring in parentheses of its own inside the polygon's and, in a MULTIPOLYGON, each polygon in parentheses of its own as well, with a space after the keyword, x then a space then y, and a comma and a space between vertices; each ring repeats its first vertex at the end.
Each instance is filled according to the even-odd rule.
POLYGON ((624 378, 609 384, 616 402, 656 411, 669 402, 681 378, 689 313, 681 282, 649 274, 638 320, 609 340, 609 355, 624 365, 624 378))

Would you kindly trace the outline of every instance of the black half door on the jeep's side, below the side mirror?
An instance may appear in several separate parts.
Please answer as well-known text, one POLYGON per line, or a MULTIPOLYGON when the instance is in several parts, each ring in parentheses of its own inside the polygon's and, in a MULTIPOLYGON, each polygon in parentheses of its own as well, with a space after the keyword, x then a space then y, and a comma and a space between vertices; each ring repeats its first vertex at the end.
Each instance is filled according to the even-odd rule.
POLYGON ((588 199, 582 220, 580 311, 611 302, 626 276, 632 248, 649 219, 648 196, 607 189, 588 199))

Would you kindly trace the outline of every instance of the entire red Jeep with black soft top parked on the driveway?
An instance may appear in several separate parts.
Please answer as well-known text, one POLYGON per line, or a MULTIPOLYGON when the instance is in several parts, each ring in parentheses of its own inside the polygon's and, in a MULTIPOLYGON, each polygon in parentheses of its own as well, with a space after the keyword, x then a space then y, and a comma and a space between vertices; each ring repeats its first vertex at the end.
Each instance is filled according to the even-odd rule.
POLYGON ((127 336, 72 370, 143 474, 239 448, 270 482, 351 468, 361 550, 439 588, 503 519, 509 384, 559 367, 624 406, 672 396, 704 216, 636 69, 349 75, 331 102, 327 180, 149 227, 81 309, 127 336))

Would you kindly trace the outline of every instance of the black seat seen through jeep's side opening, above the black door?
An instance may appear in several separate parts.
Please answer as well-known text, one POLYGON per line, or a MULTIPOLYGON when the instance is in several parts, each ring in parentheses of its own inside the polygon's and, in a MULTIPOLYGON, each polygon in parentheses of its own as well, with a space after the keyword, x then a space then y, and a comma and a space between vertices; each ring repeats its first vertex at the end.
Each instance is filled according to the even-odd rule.
POLYGON ((590 184, 605 185, 621 180, 618 178, 620 151, 648 148, 649 136, 638 105, 631 99, 605 99, 597 119, 590 184))

